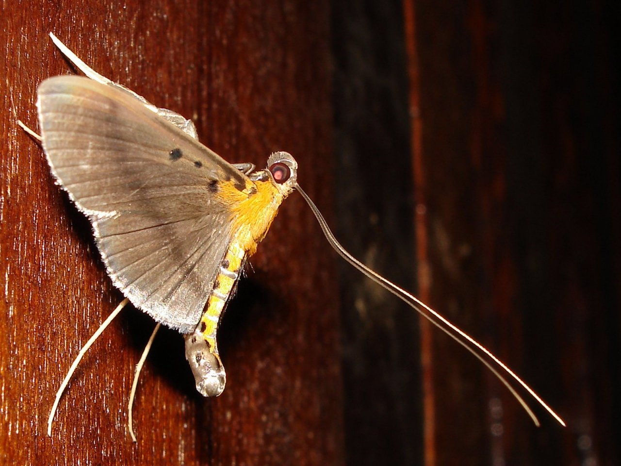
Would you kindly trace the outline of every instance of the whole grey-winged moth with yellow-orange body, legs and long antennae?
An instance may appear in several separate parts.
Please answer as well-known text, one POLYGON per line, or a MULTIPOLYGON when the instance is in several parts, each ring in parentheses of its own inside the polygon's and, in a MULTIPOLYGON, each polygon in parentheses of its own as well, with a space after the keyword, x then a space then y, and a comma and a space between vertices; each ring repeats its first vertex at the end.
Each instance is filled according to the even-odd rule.
POLYGON ((217 348, 220 317, 240 271, 265 237, 278 208, 293 191, 314 213, 329 244, 353 267, 401 298, 483 362, 538 424, 514 388, 519 385, 560 424, 562 419, 512 370, 440 314, 351 256, 335 239, 319 209, 297 183, 297 162, 274 152, 266 168, 232 165, 198 142, 192 121, 149 103, 99 75, 50 34, 84 76, 48 78, 38 89, 42 141, 56 183, 93 226, 112 283, 124 301, 80 350, 57 392, 55 411, 79 360, 128 301, 185 339, 186 359, 204 396, 224 390, 217 348))

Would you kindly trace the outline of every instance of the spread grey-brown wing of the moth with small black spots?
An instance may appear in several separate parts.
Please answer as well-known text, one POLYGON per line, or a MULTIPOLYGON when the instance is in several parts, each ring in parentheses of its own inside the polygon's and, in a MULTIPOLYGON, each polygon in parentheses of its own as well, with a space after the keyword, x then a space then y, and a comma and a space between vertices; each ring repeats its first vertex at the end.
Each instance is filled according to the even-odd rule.
POLYGON ((193 330, 231 236, 214 183, 252 181, 111 86, 57 76, 37 106, 52 173, 93 224, 114 285, 156 321, 193 330))

